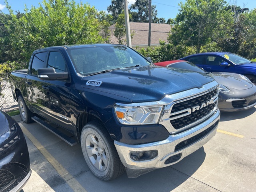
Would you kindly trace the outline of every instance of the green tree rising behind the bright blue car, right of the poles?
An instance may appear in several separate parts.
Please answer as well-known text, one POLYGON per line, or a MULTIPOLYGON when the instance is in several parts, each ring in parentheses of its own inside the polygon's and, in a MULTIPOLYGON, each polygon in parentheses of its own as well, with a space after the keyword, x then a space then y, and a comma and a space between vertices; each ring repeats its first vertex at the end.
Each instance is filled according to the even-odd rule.
POLYGON ((211 41, 218 22, 222 19, 224 0, 187 0, 181 2, 180 13, 176 16, 174 27, 168 38, 174 45, 184 43, 196 46, 199 53, 201 46, 211 41))

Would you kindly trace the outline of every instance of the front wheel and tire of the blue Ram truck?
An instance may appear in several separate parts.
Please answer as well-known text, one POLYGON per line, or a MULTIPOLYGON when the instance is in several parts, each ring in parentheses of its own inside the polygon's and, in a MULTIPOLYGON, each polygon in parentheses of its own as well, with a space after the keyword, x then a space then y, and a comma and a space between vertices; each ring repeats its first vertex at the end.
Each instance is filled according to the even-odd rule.
POLYGON ((114 142, 101 123, 93 121, 84 126, 81 146, 87 165, 99 179, 109 181, 124 173, 114 142))

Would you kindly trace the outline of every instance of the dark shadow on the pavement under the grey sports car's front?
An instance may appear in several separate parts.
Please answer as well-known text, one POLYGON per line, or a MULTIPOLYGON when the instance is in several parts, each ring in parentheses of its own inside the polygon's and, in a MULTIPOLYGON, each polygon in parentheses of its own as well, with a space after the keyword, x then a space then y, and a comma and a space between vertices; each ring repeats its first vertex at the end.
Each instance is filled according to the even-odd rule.
POLYGON ((220 121, 231 121, 234 119, 243 119, 243 118, 246 118, 247 116, 254 114, 254 112, 256 112, 255 107, 250 108, 245 111, 226 112, 226 113, 221 112, 220 113, 220 121))

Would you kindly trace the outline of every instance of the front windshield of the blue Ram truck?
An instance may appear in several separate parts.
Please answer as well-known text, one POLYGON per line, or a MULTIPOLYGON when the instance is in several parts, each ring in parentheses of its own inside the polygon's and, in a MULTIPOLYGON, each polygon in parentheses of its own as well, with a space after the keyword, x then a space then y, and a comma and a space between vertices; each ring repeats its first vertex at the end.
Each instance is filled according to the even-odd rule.
POLYGON ((90 46, 68 49, 76 72, 91 75, 132 66, 147 66, 150 62, 127 46, 90 46))

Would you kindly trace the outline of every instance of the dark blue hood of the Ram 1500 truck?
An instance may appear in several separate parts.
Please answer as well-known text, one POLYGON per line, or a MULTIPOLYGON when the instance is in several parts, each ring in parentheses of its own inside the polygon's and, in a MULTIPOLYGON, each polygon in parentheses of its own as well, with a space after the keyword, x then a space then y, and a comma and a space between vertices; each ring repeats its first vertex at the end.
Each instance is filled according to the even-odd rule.
POLYGON ((201 88, 214 81, 204 73, 177 68, 142 66, 96 74, 82 78, 82 87, 115 94, 132 102, 161 100, 168 94, 192 88, 201 88), (88 81, 102 82, 100 85, 86 85, 88 81))

